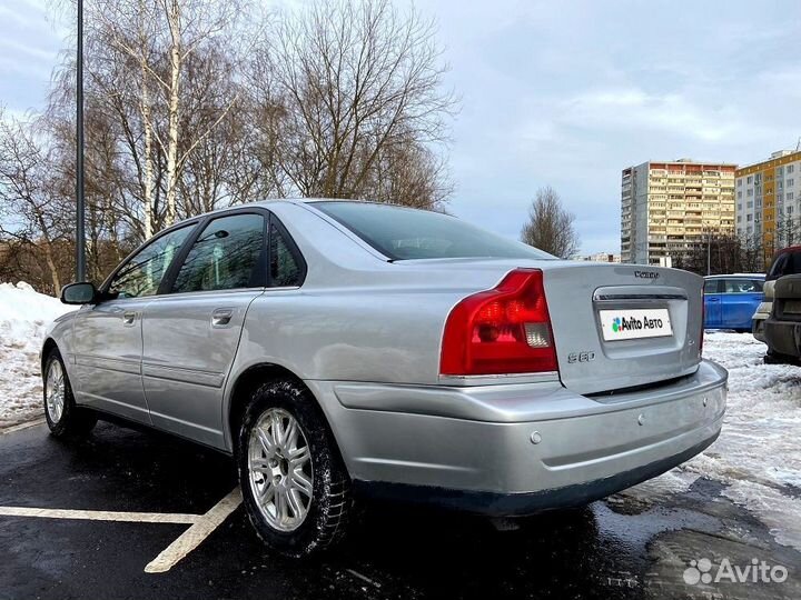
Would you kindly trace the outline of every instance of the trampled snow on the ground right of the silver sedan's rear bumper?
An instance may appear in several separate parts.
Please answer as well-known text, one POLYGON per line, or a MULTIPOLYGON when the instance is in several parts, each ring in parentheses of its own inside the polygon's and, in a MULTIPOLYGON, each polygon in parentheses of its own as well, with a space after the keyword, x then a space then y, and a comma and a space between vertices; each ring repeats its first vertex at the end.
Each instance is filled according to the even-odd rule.
POLYGON ((728 484, 723 496, 748 508, 783 546, 801 550, 801 367, 764 364, 767 347, 748 333, 708 332, 704 358, 729 370, 721 437, 702 454, 626 490, 655 500, 699 478, 728 484))

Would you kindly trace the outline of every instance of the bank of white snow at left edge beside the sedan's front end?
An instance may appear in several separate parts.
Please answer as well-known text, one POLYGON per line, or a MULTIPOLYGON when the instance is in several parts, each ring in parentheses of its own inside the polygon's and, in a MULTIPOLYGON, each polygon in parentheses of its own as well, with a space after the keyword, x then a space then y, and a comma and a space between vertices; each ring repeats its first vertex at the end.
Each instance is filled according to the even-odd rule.
POLYGON ((0 283, 0 428, 42 413, 39 350, 47 326, 70 310, 28 283, 0 283))

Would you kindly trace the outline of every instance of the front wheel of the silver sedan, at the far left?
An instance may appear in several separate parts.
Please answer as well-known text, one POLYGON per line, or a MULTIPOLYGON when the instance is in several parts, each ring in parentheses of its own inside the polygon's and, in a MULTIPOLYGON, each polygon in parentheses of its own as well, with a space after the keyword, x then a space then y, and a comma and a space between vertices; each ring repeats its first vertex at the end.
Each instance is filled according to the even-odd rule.
POLYGON ((75 402, 61 353, 53 349, 44 361, 42 400, 44 419, 56 438, 82 438, 97 424, 97 416, 75 402))

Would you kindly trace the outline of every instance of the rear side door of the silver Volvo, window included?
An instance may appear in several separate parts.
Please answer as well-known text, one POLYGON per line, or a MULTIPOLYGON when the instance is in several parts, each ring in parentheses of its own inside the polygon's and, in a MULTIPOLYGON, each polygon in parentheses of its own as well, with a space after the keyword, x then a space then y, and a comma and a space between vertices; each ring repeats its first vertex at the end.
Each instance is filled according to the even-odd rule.
POLYGON ((267 213, 208 219, 146 307, 142 381, 154 426, 224 446, 222 389, 245 314, 267 281, 267 213))

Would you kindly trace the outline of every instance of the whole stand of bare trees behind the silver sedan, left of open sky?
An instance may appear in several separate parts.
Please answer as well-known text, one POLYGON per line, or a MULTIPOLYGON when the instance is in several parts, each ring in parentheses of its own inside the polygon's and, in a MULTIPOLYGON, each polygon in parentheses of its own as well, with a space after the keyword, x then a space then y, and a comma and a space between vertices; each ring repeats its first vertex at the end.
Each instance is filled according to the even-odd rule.
MULTIPOLYGON (((434 24, 389 0, 313 1, 279 16, 250 0, 86 1, 90 279, 176 218, 255 199, 444 210, 456 103, 434 24)), ((0 274, 52 292, 75 250, 73 56, 33 122, 0 128, 0 274)))

